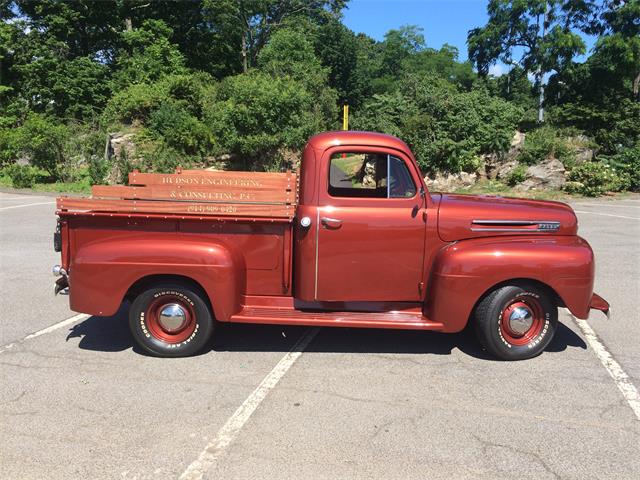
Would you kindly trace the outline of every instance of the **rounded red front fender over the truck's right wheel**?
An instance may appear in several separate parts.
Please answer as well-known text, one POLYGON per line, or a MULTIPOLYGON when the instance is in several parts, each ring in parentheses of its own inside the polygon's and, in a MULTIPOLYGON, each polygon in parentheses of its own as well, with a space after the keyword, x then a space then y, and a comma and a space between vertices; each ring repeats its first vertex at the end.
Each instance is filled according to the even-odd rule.
POLYGON ((428 283, 425 315, 462 330, 476 303, 497 285, 533 280, 555 292, 578 318, 586 318, 593 293, 589 244, 577 236, 481 238, 445 246, 428 283))

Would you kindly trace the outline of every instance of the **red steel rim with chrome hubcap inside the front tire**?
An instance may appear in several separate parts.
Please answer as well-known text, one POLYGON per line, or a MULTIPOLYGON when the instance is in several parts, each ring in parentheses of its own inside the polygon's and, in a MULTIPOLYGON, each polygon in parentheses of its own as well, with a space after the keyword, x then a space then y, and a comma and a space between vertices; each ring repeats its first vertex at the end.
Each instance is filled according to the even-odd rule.
POLYGON ((533 297, 521 297, 507 305, 500 315, 500 334, 512 345, 527 345, 544 328, 542 306, 533 297))

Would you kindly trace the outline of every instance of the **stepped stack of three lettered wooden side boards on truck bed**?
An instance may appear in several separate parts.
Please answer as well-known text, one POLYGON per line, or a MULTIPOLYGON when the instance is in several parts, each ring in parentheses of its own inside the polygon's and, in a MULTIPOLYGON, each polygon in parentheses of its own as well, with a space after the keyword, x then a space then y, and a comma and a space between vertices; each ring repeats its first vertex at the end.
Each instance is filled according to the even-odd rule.
POLYGON ((297 175, 293 172, 222 172, 178 169, 173 174, 129 174, 129 186, 96 185, 91 198, 59 197, 65 213, 171 214, 293 219, 297 175))

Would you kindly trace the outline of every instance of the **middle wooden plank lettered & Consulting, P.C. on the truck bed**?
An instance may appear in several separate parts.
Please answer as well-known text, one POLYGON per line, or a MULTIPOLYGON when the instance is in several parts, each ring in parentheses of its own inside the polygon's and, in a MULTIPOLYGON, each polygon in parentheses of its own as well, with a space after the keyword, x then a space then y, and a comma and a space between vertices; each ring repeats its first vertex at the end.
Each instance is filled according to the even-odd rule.
POLYGON ((211 187, 208 185, 149 185, 125 187, 121 185, 95 185, 91 188, 95 198, 124 198, 145 200, 205 201, 225 203, 293 204, 296 193, 281 186, 260 189, 239 186, 211 187))

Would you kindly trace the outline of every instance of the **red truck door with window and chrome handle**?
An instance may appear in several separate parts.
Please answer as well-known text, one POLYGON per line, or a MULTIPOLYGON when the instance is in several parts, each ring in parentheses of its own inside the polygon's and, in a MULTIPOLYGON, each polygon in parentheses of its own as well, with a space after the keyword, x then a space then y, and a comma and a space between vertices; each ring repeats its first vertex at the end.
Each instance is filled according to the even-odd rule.
POLYGON ((413 163, 384 149, 325 152, 315 298, 419 301, 425 209, 413 163))

